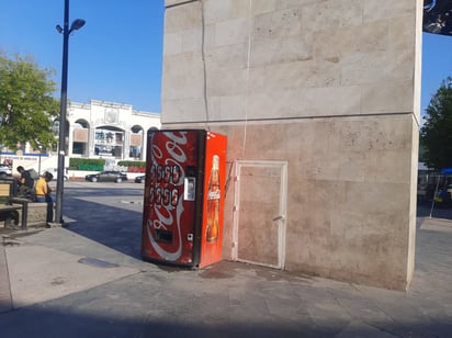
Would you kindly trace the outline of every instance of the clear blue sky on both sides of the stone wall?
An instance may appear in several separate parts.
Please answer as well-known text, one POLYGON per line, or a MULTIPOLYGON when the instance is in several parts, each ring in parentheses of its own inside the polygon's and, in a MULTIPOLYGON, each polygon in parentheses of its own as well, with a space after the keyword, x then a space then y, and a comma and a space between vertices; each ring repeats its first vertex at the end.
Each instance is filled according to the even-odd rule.
MULTIPOLYGON (((69 37, 68 100, 132 104, 161 111, 163 0, 71 0, 69 24, 86 25, 69 37)), ((59 98, 64 0, 0 1, 0 50, 32 55, 56 70, 59 98)), ((452 76, 452 36, 422 33, 421 113, 442 80, 452 76)))

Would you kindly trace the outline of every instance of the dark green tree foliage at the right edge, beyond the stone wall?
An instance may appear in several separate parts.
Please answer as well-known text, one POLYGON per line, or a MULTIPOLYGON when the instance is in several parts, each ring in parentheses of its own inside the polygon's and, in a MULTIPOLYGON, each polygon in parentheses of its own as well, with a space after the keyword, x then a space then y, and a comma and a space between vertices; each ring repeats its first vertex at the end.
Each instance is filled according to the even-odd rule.
POLYGON ((448 77, 430 100, 420 128, 422 160, 429 168, 452 167, 452 78, 448 77))

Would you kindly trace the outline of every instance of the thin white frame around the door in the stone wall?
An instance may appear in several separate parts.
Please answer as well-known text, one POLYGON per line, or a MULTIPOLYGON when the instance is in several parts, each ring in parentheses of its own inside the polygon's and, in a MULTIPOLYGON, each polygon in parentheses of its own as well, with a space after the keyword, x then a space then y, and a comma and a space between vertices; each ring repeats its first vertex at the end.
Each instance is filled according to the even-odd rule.
POLYGON ((285 240, 286 240, 286 219, 287 219, 287 161, 275 160, 236 160, 234 174, 234 213, 233 213, 233 250, 231 258, 234 261, 242 261, 258 266, 265 266, 275 269, 284 269, 285 266, 285 240), (280 183, 280 215, 273 222, 278 222, 278 264, 269 264, 263 262, 249 261, 238 257, 238 232, 240 217, 240 169, 242 167, 270 167, 280 168, 281 183, 280 183))

